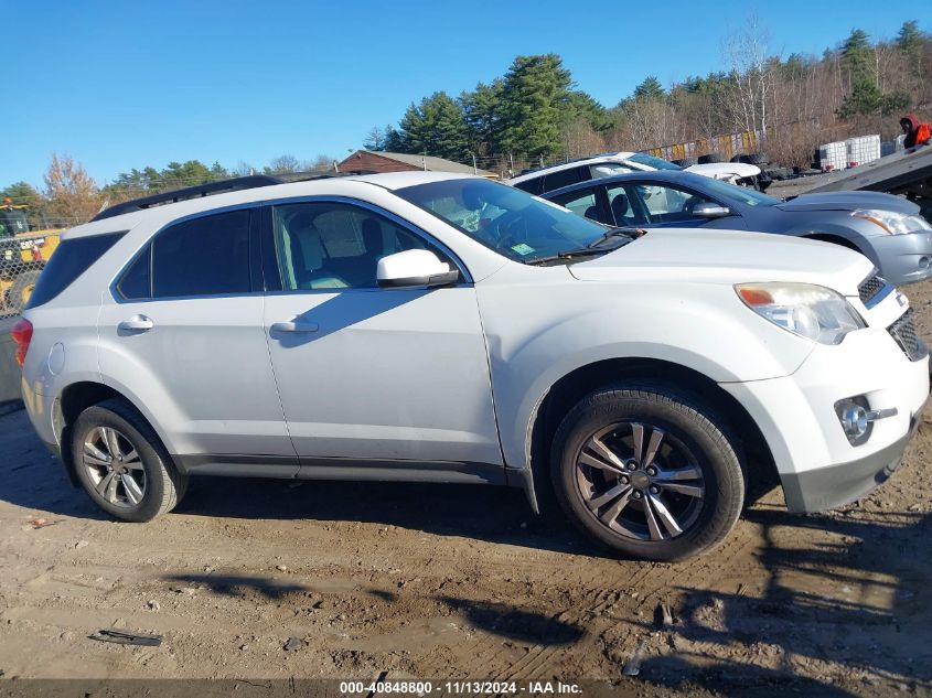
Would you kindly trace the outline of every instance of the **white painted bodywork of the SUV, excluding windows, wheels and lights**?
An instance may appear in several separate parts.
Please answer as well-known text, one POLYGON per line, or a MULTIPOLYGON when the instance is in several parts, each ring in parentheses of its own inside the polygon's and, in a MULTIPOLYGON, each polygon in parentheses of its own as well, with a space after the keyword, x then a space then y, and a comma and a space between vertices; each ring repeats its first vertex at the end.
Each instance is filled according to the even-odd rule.
POLYGON ((127 397, 172 454, 251 449, 293 458, 278 462, 285 476, 298 473, 298 459, 320 457, 473 461, 529 479, 531 432, 550 388, 577 368, 625 358, 668 362, 717 383, 791 479, 882 453, 914 426, 929 393, 929 358, 909 361, 887 332, 904 312, 900 294, 870 309, 860 303, 858 284, 872 269, 864 257, 795 238, 664 228, 591 260, 528 266, 393 194, 457 176, 281 184, 69 230, 65 240, 128 232, 52 301, 23 313, 34 325, 23 393, 36 431, 56 443, 57 400, 87 380, 127 397), (110 292, 132 255, 169 223, 315 198, 362 202, 416 226, 462 262, 463 283, 138 303, 110 292), (818 345, 757 315, 733 289, 773 281, 832 288, 868 326, 837 346, 818 345), (156 322, 142 341, 116 330, 135 314, 156 322), (313 340, 285 346, 270 334, 272 323, 303 314, 318 316, 313 340), (199 337, 203 327, 218 343, 199 337), (899 411, 856 448, 833 405, 860 394, 899 411))

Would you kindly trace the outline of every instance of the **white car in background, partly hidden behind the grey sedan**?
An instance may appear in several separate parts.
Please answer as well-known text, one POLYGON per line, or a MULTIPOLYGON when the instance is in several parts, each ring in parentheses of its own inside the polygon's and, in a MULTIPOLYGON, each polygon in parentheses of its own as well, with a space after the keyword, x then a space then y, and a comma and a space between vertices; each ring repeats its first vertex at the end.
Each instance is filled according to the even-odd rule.
POLYGON ((609 152, 525 172, 508 180, 507 183, 532 194, 543 194, 601 176, 656 170, 684 170, 730 184, 748 186, 753 186, 761 173, 759 167, 746 162, 709 162, 681 168, 678 164, 642 152, 609 152))

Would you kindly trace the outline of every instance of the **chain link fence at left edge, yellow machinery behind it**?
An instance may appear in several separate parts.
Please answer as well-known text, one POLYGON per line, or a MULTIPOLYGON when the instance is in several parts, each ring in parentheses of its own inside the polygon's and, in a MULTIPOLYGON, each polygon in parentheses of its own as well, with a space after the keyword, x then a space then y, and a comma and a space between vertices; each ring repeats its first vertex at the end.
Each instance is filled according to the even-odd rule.
POLYGON ((62 230, 0 237, 0 318, 18 315, 58 246, 62 230))

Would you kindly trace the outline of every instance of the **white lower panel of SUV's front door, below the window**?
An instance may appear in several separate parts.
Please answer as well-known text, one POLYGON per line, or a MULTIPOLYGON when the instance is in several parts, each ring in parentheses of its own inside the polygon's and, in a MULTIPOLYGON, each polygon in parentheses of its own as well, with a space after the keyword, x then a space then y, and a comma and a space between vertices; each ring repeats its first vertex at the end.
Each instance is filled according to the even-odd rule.
POLYGON ((269 294, 264 329, 299 457, 502 464, 473 288, 269 294))

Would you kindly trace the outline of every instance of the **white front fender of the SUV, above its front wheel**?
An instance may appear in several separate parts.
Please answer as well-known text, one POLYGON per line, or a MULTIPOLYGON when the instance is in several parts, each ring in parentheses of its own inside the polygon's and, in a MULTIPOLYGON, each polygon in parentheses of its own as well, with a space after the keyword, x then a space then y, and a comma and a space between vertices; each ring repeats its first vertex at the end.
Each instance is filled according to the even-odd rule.
POLYGON ((525 289, 510 289, 508 302, 496 301, 494 291, 480 294, 507 466, 529 468, 531 431, 540 402, 554 384, 583 366, 649 358, 690 368, 716 383, 735 383, 789 375, 813 351, 811 342, 744 308, 730 286, 679 284, 692 287, 686 296, 675 286, 666 296, 634 301, 600 284, 603 296, 594 303, 597 289, 586 283, 559 293, 538 288, 526 304, 514 302, 515 293, 525 289), (575 298, 583 293, 588 308, 572 312, 586 307, 575 298))

